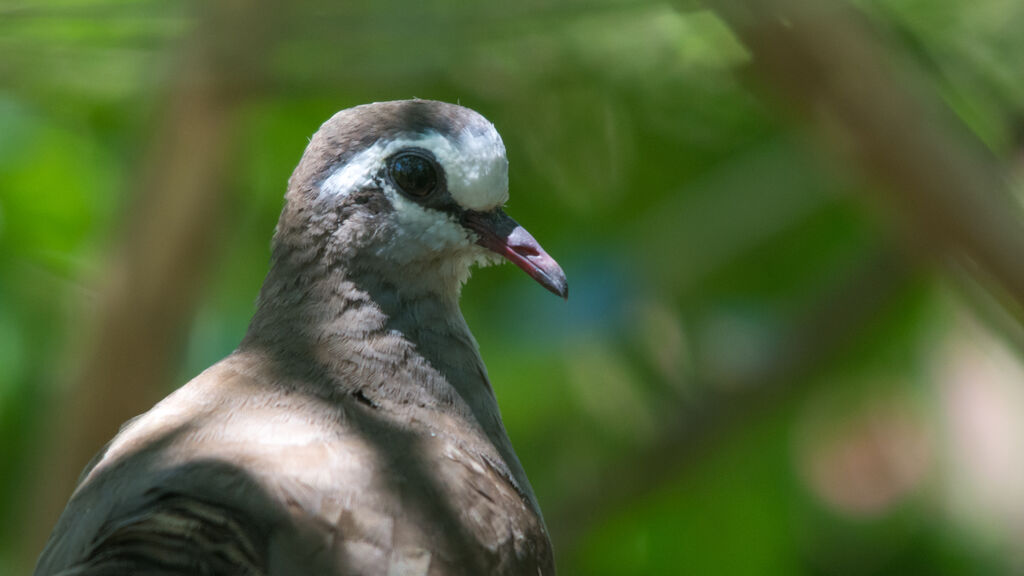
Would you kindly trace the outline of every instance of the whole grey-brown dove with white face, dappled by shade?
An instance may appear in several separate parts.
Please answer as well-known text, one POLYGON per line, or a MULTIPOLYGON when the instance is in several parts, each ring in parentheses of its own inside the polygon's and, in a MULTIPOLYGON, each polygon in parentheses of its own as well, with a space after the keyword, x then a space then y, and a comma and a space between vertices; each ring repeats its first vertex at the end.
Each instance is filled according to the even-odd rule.
POLYGON ((568 296, 507 200, 505 146, 473 110, 331 117, 241 343, 93 458, 35 574, 554 574, 459 306, 502 260, 568 296))

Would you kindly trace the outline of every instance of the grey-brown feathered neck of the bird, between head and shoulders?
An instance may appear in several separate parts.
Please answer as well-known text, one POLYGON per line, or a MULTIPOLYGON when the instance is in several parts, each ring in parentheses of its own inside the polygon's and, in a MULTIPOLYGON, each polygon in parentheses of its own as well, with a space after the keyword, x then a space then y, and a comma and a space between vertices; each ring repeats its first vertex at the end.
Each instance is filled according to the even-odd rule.
POLYGON ((275 260, 240 349, 272 355, 321 396, 358 393, 382 407, 436 407, 500 426, 458 290, 411 289, 368 262, 347 264, 275 260))

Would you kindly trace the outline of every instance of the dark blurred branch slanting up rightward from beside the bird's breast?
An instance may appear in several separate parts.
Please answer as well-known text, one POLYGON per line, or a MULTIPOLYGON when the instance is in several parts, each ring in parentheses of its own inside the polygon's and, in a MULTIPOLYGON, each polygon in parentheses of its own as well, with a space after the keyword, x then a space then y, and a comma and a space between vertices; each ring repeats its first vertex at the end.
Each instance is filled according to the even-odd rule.
POLYGON ((676 417, 663 422, 642 450, 629 453, 604 474, 592 475, 574 487, 572 498, 549 505, 549 525, 556 549, 575 553, 591 527, 637 498, 678 478, 699 456, 714 452, 730 434, 792 401, 814 382, 813 374, 846 349, 907 288, 915 272, 903 254, 883 252, 827 294, 799 320, 784 338, 771 366, 750 381, 728 388, 713 382, 696 389, 717 392, 696 402, 680 403, 676 417))

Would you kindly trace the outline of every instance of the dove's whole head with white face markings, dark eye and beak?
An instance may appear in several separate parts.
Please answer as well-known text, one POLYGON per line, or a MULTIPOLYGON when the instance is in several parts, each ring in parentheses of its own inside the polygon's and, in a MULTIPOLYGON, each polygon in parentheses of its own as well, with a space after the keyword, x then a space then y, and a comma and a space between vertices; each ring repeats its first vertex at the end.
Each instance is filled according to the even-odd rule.
POLYGON ((502 209, 505 146, 467 108, 417 99, 339 112, 313 135, 289 183, 275 254, 456 295, 473 264, 505 258, 568 294, 558 263, 502 209))

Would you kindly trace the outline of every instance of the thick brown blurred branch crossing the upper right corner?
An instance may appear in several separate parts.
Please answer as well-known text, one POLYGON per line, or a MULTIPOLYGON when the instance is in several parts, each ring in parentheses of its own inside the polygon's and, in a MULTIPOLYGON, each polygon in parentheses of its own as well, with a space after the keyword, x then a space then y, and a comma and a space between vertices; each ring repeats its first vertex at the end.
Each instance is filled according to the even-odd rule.
POLYGON ((909 64, 840 2, 712 5, 751 49, 755 73, 886 191, 923 246, 982 273, 1024 319, 1024 214, 1009 174, 909 64))

